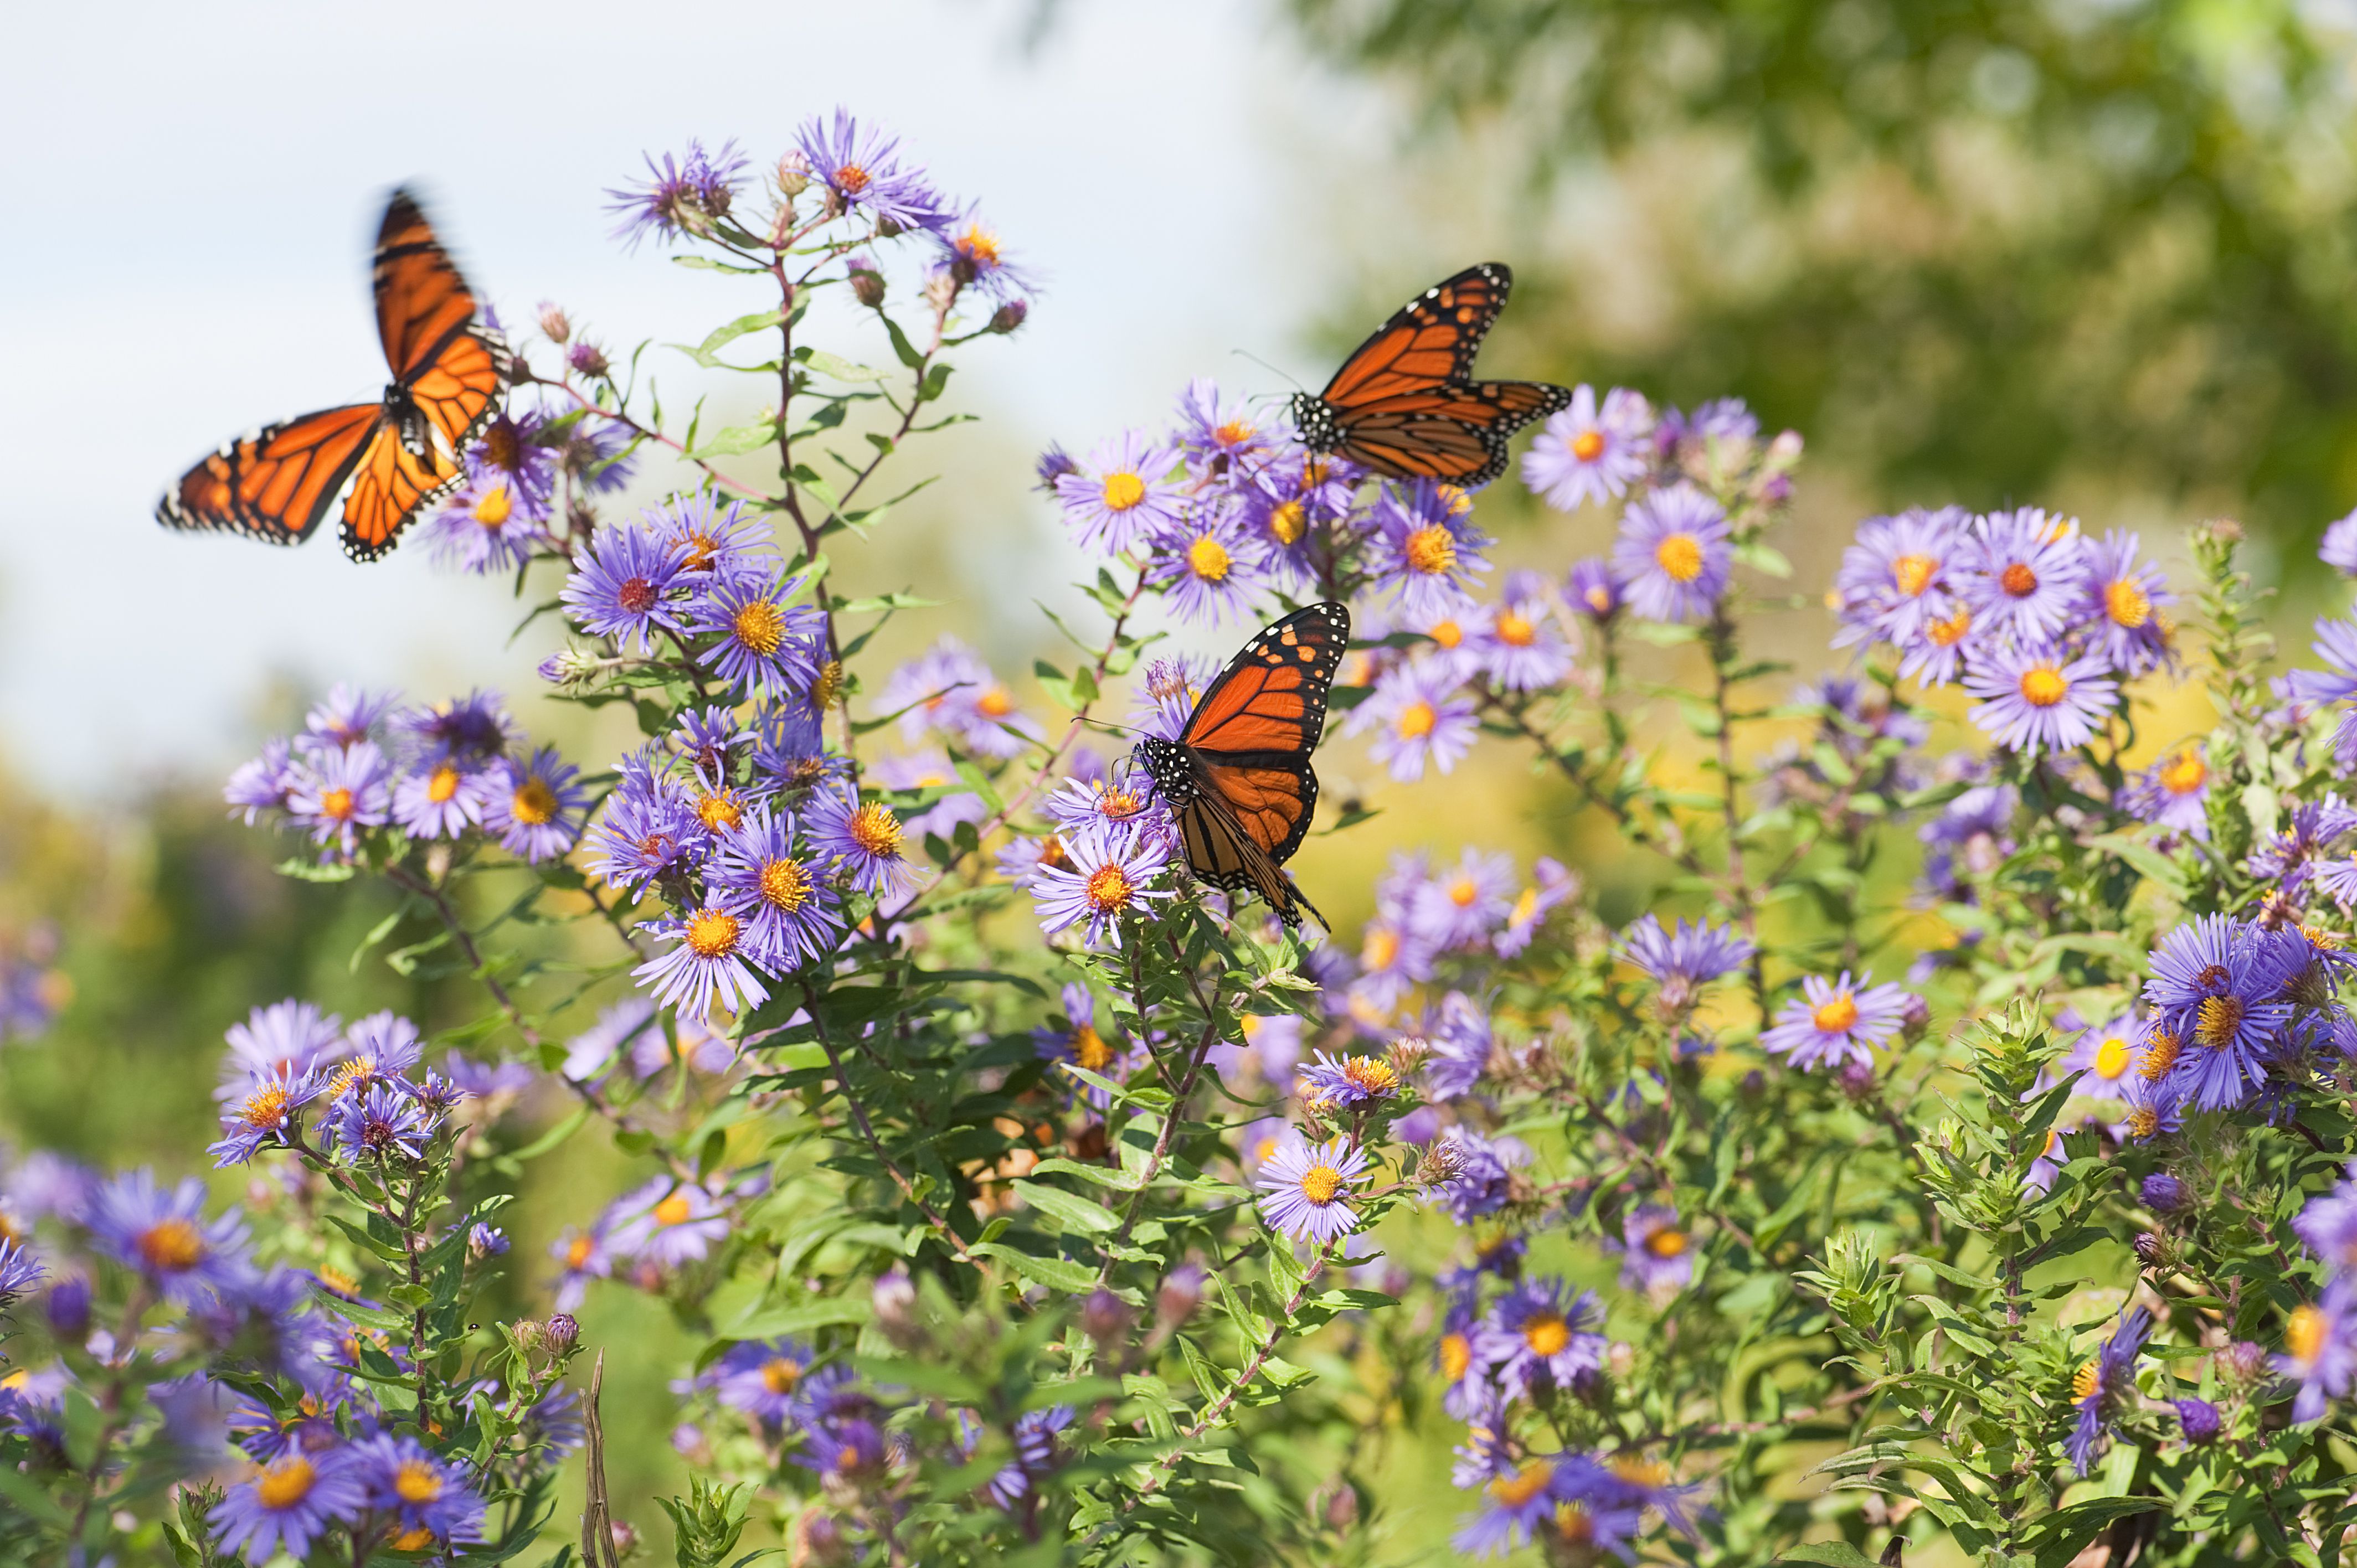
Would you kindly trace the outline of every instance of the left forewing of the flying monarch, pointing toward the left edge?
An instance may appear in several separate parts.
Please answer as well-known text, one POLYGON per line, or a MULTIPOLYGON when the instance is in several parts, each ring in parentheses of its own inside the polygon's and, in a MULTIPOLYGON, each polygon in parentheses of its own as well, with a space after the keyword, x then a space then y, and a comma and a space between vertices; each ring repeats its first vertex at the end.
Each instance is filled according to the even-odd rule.
POLYGON ((382 415, 377 403, 323 408, 231 441, 165 490, 156 521, 299 545, 344 493, 370 439, 389 434, 382 415))

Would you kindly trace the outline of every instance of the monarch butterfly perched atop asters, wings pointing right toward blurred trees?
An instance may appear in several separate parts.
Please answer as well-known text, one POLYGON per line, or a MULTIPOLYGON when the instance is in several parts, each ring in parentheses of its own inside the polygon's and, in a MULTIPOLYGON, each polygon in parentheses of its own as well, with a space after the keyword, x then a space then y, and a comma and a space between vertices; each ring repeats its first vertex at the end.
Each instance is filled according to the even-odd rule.
POLYGON ((1402 304, 1322 394, 1294 394, 1301 443, 1391 479, 1466 490, 1497 479, 1506 439, 1572 401, 1546 382, 1473 380, 1473 356, 1511 288, 1504 262, 1480 262, 1402 304))

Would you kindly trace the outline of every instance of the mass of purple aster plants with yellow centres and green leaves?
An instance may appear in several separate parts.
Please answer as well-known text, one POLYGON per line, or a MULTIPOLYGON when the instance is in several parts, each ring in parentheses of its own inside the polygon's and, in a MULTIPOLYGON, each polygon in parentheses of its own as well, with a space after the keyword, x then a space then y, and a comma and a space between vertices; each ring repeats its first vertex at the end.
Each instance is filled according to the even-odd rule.
MULTIPOLYGON (((1739 403, 1582 387, 1492 507, 1193 382, 1039 462, 1072 653, 889 670, 929 606, 830 545, 1028 318, 1018 245, 844 111, 613 200, 745 292, 686 356, 771 403, 658 408, 559 307, 516 344, 434 538, 566 627, 544 691, 339 686, 226 783, 285 875, 398 894, 356 964, 467 1002, 224 1019, 238 1203, 0 1170, 0 1551, 610 1568, 653 1521, 580 1372, 648 1351, 570 1313, 636 1292, 702 1346, 688 1568, 2338 1561, 2357 627, 2277 672, 2232 523, 1916 509, 1796 597, 1801 441, 1739 403), (1322 762, 1424 844, 1318 823, 1346 931, 1197 879, 1127 755, 1216 674, 1153 641, 1315 599, 1322 762), (1770 615, 1829 618, 1798 686, 1770 615), (1483 755, 1553 856, 1457 835, 1483 755), (542 1184, 587 1137, 627 1174, 542 1184), (476 1313, 502 1273, 544 1311, 476 1313)), ((0 1035, 64 1002, 26 953, 0 1035)))

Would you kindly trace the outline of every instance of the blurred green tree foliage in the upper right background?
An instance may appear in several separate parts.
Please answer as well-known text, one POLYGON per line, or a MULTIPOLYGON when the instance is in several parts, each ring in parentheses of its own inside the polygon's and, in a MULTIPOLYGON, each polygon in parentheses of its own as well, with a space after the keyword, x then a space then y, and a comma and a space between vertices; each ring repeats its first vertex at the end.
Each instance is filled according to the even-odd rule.
POLYGON ((1563 233, 1516 255, 1525 368, 1737 391, 1888 502, 2077 483, 2289 547, 2357 500, 2357 9, 1287 2, 1563 233))

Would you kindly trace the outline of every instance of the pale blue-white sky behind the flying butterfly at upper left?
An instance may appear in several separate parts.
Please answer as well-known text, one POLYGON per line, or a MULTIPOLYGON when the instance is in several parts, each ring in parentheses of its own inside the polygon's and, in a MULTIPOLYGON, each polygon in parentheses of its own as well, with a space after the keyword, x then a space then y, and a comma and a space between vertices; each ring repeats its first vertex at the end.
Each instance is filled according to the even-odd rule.
MULTIPOLYGON (((976 594, 1056 566, 1023 450, 1157 420, 1190 373, 1308 380, 1301 325, 1369 271, 1322 238, 1325 177, 1393 134, 1306 66, 1266 5, 478 5, 448 40, 358 5, 40 7, 0 59, 0 762, 61 797, 203 778, 271 677, 441 691, 526 681, 504 589, 422 549, 179 538, 170 476, 269 417, 372 398, 365 245, 417 179, 509 318, 566 302, 608 340, 693 340, 740 309, 709 274, 606 238, 641 149, 783 149, 837 101, 903 132, 1049 278, 971 354, 959 556, 976 594), (981 528, 997 528, 983 535, 981 528)), ((1412 288, 1419 262, 1398 283, 1412 288)), ((684 363, 684 361, 681 361, 684 363)), ((686 382, 681 382, 681 391, 686 382)), ((332 533, 332 521, 328 526, 332 533)))

